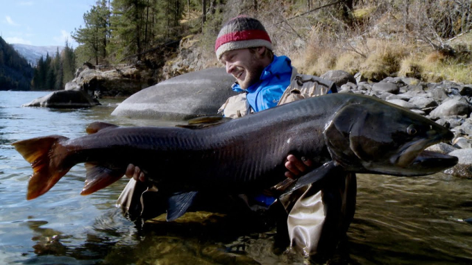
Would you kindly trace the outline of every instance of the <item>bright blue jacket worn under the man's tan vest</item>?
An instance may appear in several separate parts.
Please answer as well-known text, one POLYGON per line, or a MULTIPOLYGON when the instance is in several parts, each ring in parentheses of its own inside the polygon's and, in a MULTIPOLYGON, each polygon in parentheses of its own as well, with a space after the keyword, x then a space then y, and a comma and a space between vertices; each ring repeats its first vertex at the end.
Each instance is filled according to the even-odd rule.
POLYGON ((233 85, 235 92, 246 92, 249 105, 255 112, 273 108, 277 105, 292 77, 292 61, 287 56, 273 55, 273 61, 264 68, 260 80, 246 90, 233 85))

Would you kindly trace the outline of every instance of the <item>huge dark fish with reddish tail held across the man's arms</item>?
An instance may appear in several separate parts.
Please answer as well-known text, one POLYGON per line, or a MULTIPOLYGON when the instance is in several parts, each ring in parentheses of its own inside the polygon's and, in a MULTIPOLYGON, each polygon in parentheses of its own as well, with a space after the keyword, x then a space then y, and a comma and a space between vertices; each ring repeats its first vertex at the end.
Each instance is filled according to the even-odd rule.
POLYGON ((118 127, 92 123, 89 135, 37 137, 12 145, 31 163, 28 199, 49 191, 72 166, 85 162, 81 194, 107 187, 128 164, 140 166, 176 203, 180 216, 198 191, 246 193, 285 179, 292 153, 316 165, 286 191, 326 176, 332 169, 394 176, 437 173, 457 157, 424 149, 448 142, 443 126, 379 99, 329 94, 296 101, 199 129, 118 127))

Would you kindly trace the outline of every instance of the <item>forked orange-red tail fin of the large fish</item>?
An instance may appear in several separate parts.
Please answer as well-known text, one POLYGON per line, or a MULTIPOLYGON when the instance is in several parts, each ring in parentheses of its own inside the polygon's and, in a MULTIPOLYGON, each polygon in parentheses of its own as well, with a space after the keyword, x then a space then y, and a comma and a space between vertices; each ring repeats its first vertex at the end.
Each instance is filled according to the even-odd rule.
POLYGON ((71 169, 71 166, 63 166, 67 151, 60 144, 67 139, 69 138, 51 135, 12 144, 24 160, 31 163, 33 168, 33 175, 28 182, 28 194, 26 195, 28 200, 45 194, 71 169))

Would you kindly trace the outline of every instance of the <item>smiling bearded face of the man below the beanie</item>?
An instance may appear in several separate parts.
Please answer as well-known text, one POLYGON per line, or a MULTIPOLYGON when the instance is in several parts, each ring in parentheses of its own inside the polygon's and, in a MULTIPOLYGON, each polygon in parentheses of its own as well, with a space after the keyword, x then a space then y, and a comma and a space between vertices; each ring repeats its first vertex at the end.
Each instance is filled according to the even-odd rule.
POLYGON ((267 66, 262 60, 260 51, 252 53, 249 49, 226 51, 221 56, 221 62, 226 65, 226 72, 236 78, 242 89, 247 89, 256 83, 267 66))

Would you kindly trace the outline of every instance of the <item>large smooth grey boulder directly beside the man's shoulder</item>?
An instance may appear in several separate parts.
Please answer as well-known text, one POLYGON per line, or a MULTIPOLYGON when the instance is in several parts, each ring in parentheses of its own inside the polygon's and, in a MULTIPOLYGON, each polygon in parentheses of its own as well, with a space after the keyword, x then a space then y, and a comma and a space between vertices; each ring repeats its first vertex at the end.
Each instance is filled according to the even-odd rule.
POLYGON ((224 68, 194 71, 133 94, 112 115, 137 119, 186 120, 216 115, 230 96, 235 78, 224 68))

